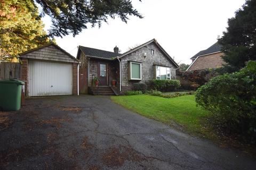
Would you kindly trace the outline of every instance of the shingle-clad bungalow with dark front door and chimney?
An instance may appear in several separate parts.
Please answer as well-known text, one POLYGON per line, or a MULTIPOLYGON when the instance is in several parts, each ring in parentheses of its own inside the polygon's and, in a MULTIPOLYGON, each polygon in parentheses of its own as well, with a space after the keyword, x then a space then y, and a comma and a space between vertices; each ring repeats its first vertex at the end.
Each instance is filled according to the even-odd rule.
POLYGON ((100 79, 100 92, 106 95, 132 90, 133 84, 138 82, 176 79, 178 64, 155 39, 124 54, 119 54, 118 50, 118 47, 114 48, 114 52, 78 47, 77 59, 81 62, 79 83, 83 83, 80 86, 81 93, 94 94, 94 77, 100 79), (113 80, 116 82, 115 87, 111 86, 113 80))

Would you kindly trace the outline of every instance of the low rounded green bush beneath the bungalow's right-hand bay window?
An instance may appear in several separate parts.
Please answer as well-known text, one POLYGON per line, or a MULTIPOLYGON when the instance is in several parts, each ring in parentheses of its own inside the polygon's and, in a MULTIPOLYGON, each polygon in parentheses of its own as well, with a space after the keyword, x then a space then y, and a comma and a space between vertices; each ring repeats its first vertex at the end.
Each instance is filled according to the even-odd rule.
POLYGON ((179 80, 151 80, 150 88, 158 91, 174 91, 180 87, 179 80))

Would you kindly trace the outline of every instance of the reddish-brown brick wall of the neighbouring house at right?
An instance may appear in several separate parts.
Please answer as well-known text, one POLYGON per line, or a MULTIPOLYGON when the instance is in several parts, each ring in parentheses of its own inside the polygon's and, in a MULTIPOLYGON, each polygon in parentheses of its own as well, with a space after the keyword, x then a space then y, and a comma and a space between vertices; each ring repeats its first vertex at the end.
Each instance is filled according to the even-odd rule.
POLYGON ((221 58, 222 55, 223 53, 215 53, 198 57, 195 63, 189 68, 189 70, 203 70, 209 68, 214 69, 221 67, 222 64, 225 64, 221 58))

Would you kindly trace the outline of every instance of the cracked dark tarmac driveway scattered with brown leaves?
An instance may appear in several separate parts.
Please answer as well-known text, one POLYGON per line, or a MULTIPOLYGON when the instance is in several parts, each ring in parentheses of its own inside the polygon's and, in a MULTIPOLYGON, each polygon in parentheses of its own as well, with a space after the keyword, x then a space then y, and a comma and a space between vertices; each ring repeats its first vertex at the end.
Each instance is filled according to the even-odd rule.
MULTIPOLYGON (((171 109, 171 108, 170 108, 171 109)), ((32 98, 0 112, 0 169, 255 169, 104 96, 32 98)))

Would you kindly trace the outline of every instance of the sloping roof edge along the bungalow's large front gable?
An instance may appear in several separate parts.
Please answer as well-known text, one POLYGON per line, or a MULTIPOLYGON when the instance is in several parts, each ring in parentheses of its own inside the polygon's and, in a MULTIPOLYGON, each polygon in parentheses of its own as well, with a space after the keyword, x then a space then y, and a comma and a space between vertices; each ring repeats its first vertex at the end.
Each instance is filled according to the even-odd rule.
POLYGON ((146 43, 144 43, 144 44, 142 44, 142 45, 140 45, 140 46, 138 46, 138 47, 135 47, 135 48, 133 48, 133 49, 131 49, 131 50, 125 52, 124 54, 122 54, 121 56, 119 56, 119 58, 122 58, 122 57, 124 57, 124 56, 126 56, 126 55, 128 55, 128 54, 130 54, 130 53, 132 53, 132 52, 135 52, 136 50, 138 50, 138 49, 140 49, 140 48, 142 48, 142 47, 145 47, 145 46, 149 45, 150 43, 155 43, 156 46, 157 46, 159 49, 161 49, 162 52, 169 58, 169 60, 171 60, 171 62, 172 62, 177 68, 179 67, 179 65, 178 65, 178 64, 173 60, 173 58, 164 50, 164 48, 163 48, 159 43, 157 43, 157 40, 156 40, 155 38, 154 38, 154 39, 151 39, 150 41, 147 41, 146 43))

